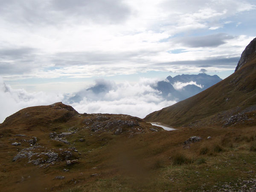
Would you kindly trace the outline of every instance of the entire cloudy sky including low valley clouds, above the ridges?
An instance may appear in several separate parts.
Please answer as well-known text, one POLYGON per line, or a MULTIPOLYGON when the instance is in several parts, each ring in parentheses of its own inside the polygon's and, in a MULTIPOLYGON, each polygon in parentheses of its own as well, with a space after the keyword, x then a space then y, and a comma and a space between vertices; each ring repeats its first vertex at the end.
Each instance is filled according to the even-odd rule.
POLYGON ((156 81, 232 74, 255 18, 255 0, 0 0, 0 122, 58 101, 143 118, 175 103, 156 81), (97 84, 111 89, 68 99, 97 84))

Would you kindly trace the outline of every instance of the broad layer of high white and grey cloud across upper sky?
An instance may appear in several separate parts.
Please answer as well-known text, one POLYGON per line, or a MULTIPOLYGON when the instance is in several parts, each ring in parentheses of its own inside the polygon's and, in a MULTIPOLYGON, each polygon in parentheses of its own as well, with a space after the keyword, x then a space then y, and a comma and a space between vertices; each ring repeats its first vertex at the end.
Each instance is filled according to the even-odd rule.
MULTIPOLYGON (((17 52, 13 47, 21 53, 27 50, 18 57, 17 54, 0 54, 0 73, 5 80, 90 78, 96 74, 111 76, 174 70, 176 66, 159 63, 184 58, 196 61, 239 57, 252 40, 250 35, 241 34, 246 35, 246 41, 236 35, 236 44, 224 41, 219 47, 207 49, 182 42, 177 44, 172 37, 181 33, 189 38, 196 32, 200 39, 204 36, 201 29, 206 34, 207 30, 224 28, 228 23, 235 25, 238 21, 234 21, 233 16, 254 9, 255 3, 239 0, 195 0, 193 3, 174 0, 0 1, 1 52, 17 52), (170 54, 170 49, 185 49, 186 52, 170 54)), ((228 29, 225 31, 233 35, 228 29)), ((216 67, 216 70, 221 69, 216 67)), ((184 72, 192 71, 188 68, 184 72)))

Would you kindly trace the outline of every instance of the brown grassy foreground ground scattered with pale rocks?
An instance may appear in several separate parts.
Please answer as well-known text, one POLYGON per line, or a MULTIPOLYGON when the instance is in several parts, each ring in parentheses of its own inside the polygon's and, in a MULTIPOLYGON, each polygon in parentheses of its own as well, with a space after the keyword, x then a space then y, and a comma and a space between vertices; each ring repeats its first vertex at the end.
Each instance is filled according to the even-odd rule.
POLYGON ((69 107, 27 108, 0 125, 1 190, 256 191, 256 126, 164 131, 69 107))

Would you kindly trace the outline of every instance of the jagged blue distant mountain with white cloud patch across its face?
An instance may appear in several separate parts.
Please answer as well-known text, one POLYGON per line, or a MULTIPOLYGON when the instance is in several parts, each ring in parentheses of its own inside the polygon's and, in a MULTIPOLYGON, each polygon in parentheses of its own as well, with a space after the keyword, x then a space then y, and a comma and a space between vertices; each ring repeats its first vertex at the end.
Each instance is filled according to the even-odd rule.
POLYGON ((153 88, 159 90, 168 100, 181 101, 206 90, 221 80, 217 75, 210 76, 205 73, 182 74, 175 77, 168 76, 164 81, 158 81, 153 88))

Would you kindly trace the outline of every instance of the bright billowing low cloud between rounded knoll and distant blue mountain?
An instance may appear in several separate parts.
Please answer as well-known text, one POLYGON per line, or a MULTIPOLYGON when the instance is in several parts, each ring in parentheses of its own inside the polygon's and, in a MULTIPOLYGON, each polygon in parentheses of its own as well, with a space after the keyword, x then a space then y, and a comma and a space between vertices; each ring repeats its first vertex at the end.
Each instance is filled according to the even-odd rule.
POLYGON ((122 113, 144 118, 153 111, 176 103, 167 101, 159 91, 152 88, 156 82, 152 79, 141 79, 136 84, 115 84, 112 81, 98 80, 94 86, 73 96, 79 96, 79 102, 74 102, 73 97, 66 98, 66 102, 80 113, 122 113), (105 85, 103 91, 92 93, 91 90, 99 85, 105 85))

